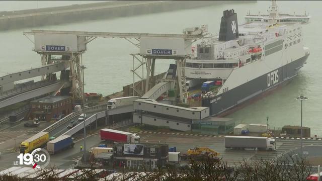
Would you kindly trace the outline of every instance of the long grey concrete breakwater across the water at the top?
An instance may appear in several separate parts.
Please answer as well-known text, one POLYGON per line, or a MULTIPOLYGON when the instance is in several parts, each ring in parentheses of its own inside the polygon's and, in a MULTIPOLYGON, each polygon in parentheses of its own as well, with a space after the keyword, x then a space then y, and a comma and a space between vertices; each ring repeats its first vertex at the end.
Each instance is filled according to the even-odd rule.
POLYGON ((113 1, 0 12, 0 31, 257 1, 113 1))

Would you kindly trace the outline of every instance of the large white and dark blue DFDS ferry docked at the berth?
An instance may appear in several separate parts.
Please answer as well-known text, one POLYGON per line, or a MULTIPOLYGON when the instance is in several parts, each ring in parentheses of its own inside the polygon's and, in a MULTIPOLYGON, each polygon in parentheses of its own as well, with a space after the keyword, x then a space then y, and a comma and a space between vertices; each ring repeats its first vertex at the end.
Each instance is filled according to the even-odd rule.
MULTIPOLYGON (((274 5, 274 3, 273 3, 274 5)), ((196 57, 186 61, 188 78, 215 80, 203 95, 202 106, 218 115, 277 87, 297 75, 309 49, 304 47, 300 23, 278 23, 270 11, 268 22, 238 26, 234 10, 226 10, 219 36, 196 47, 196 57)))

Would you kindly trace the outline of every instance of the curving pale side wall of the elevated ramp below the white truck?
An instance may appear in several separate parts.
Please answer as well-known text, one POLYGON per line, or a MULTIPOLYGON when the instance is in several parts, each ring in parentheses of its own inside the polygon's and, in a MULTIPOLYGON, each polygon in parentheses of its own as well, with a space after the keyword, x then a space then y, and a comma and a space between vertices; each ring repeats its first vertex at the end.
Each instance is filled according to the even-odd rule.
MULTIPOLYGON (((91 117, 87 118, 85 120, 85 125, 88 126, 91 123, 97 121, 98 119, 104 118, 106 116, 123 114, 123 113, 131 113, 131 112, 134 112, 133 105, 120 106, 118 108, 105 110, 105 111, 96 113, 96 114, 92 115, 91 117)), ((97 127, 97 122, 96 122, 96 127, 97 127)), ((84 129, 84 122, 77 124, 76 126, 71 128, 70 130, 63 133, 62 135, 73 135, 82 129, 84 129)))

